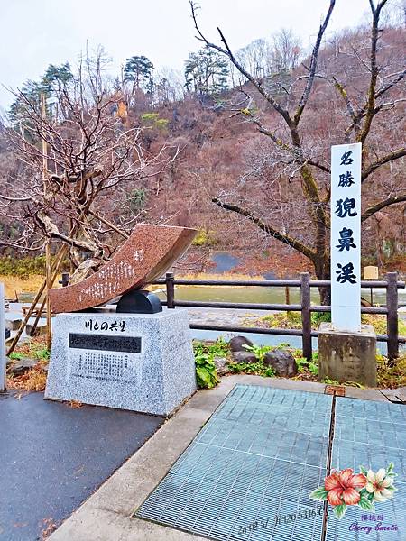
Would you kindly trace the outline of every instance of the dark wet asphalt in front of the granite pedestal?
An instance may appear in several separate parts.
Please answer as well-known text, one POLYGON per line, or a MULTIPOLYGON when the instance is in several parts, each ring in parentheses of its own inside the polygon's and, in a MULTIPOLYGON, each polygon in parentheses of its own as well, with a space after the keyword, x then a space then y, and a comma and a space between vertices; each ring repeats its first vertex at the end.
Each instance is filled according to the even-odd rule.
POLYGON ((0 393, 0 540, 42 539, 163 422, 111 408, 72 408, 0 393))

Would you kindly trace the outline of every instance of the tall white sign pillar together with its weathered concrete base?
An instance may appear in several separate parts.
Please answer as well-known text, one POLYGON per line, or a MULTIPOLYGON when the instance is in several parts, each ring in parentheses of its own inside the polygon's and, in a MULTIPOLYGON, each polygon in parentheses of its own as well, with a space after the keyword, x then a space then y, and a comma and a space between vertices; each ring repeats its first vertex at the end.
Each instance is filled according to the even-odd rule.
POLYGON ((361 325, 361 143, 331 148, 331 324, 318 329, 318 375, 376 385, 376 335, 361 325))

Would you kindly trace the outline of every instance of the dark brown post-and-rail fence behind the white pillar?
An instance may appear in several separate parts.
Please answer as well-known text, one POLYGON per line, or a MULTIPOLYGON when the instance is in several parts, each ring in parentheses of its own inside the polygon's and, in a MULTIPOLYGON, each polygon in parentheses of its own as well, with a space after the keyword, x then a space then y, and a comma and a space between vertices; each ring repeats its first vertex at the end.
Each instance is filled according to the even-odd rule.
MULTIPOLYGON (((300 312, 301 329, 263 328, 252 326, 216 326, 191 324, 191 329, 224 331, 235 333, 254 333, 261 335, 301 336, 303 356, 310 359, 312 355, 311 339, 318 336, 318 331, 311 330, 311 312, 330 312, 329 306, 312 306, 310 303, 310 288, 330 287, 330 280, 310 280, 309 272, 302 272, 300 280, 178 280, 172 272, 167 272, 165 278, 152 284, 166 287, 166 301, 163 305, 168 308, 199 307, 199 308, 237 308, 248 310, 276 310, 282 312, 300 312), (200 302, 194 300, 177 300, 175 285, 181 286, 245 286, 263 288, 300 288, 300 304, 266 304, 241 302, 200 302)), ((391 361, 399 356, 399 344, 406 344, 406 338, 398 333, 398 289, 403 289, 405 283, 398 280, 397 272, 388 272, 386 280, 363 280, 362 288, 386 289, 386 305, 384 307, 361 307, 362 314, 381 314, 386 316, 386 335, 376 335, 379 342, 386 342, 388 357, 391 361)))

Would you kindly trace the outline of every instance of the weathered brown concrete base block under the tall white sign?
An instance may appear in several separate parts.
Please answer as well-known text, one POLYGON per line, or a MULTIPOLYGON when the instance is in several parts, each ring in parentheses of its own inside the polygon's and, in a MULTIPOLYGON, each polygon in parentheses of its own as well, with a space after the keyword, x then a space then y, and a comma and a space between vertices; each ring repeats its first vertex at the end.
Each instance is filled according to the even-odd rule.
POLYGON ((376 386, 376 335, 371 325, 359 333, 335 331, 331 323, 318 329, 318 377, 376 386))

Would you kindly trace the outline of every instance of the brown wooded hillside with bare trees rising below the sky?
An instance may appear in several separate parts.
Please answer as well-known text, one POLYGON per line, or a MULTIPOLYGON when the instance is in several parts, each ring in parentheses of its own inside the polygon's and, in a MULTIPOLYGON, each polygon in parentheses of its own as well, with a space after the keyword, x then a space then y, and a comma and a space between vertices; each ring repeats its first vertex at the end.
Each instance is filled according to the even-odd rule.
MULTIPOLYGON (((379 32, 374 62, 374 25, 321 41, 303 111, 297 104, 314 50, 302 50, 287 31, 237 51, 235 62, 204 46, 189 54, 181 75, 156 73, 153 60, 138 55, 111 77, 103 50, 78 69, 51 65, 16 92, 2 126, 3 252, 40 253, 44 234, 63 240, 92 205, 87 233, 72 247, 76 264, 80 252, 103 260, 120 238, 117 229, 150 221, 198 227, 195 261, 205 261, 210 248, 226 249, 250 252, 244 271, 313 271, 309 260, 317 271, 309 250, 318 220, 328 238, 330 146, 361 141, 364 258, 401 270, 404 26, 379 32), (293 146, 284 111, 291 119, 300 111, 300 143, 293 137, 293 146), (309 195, 313 184, 317 197, 309 195)), ((321 251, 328 250, 324 242, 321 251)))

